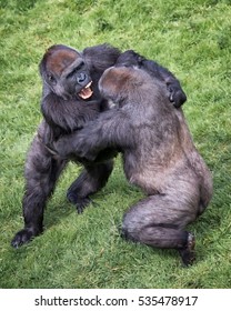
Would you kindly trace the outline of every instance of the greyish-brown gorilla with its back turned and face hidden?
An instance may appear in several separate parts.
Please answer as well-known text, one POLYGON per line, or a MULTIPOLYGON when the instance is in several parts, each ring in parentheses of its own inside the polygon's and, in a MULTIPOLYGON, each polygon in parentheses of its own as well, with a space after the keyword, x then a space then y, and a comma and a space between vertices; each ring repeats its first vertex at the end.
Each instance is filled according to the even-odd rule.
POLYGON ((120 150, 128 180, 148 194, 124 214, 123 237, 177 249, 188 265, 194 260, 194 237, 184 228, 208 207, 212 178, 182 110, 170 104, 165 84, 144 71, 142 59, 134 54, 131 61, 129 54, 137 66, 128 67, 125 53, 99 82, 102 96, 116 107, 79 133, 61 138, 56 148, 62 157, 89 160, 106 148, 120 150))

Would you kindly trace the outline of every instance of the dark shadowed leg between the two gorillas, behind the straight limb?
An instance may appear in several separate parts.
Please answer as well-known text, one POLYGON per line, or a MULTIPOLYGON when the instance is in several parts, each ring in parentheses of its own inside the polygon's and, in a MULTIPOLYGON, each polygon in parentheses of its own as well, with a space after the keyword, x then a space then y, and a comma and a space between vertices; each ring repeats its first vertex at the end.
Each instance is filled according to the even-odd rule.
POLYGON ((78 213, 82 213, 84 207, 90 203, 90 194, 102 189, 113 169, 113 160, 104 163, 86 165, 83 172, 68 189, 68 200, 77 205, 78 213))

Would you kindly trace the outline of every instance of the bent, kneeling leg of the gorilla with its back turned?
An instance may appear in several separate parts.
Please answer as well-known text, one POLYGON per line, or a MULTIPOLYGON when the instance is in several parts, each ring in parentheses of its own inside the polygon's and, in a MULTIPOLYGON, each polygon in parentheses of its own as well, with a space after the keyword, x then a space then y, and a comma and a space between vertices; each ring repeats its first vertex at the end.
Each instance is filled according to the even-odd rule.
POLYGON ((172 203, 168 194, 138 202, 123 217, 122 237, 154 248, 175 249, 188 265, 194 260, 194 237, 183 228, 194 214, 188 215, 189 209, 172 203))

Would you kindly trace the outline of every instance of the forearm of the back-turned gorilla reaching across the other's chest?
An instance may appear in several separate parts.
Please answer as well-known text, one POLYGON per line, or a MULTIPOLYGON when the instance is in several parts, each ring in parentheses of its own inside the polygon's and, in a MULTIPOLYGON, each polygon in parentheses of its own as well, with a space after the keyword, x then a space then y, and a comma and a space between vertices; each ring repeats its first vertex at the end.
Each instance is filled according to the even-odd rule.
POLYGON ((94 161, 101 150, 132 148, 131 127, 127 113, 114 108, 101 113, 82 130, 61 137, 53 147, 62 158, 76 156, 94 161))

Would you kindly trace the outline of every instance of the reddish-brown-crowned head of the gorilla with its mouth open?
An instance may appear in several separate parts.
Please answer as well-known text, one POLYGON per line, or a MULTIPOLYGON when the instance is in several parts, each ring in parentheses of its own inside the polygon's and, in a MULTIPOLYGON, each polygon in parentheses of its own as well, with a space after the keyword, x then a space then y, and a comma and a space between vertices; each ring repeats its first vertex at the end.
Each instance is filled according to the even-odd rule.
POLYGON ((62 44, 52 46, 39 68, 47 87, 62 99, 91 98, 92 79, 82 54, 77 50, 62 44))

